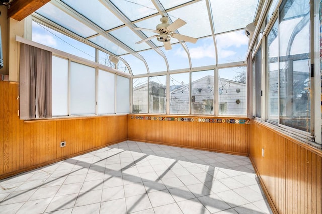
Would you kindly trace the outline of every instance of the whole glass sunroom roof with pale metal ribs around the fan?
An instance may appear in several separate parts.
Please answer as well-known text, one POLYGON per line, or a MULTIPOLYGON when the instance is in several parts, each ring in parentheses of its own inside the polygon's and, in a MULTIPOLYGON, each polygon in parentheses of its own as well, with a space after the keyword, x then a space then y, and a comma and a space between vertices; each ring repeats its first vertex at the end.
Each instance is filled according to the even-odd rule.
POLYGON ((253 22, 258 2, 52 0, 33 15, 38 21, 44 24, 50 22, 49 26, 69 33, 72 38, 93 44, 100 51, 125 60, 130 66, 130 74, 135 77, 153 72, 191 71, 202 66, 243 62, 248 45, 244 28, 253 22), (196 44, 172 37, 171 50, 165 50, 164 43, 156 38, 137 44, 158 35, 153 30, 164 16, 169 17, 169 24, 177 19, 185 21, 186 24, 173 30, 173 33, 197 38, 196 44), (152 31, 135 30, 135 27, 152 31))

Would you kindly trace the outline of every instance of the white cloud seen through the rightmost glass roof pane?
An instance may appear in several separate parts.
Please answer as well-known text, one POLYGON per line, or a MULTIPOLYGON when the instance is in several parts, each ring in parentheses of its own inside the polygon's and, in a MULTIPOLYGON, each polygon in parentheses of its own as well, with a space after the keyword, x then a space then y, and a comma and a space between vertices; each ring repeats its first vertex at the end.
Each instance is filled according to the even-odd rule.
POLYGON ((248 45, 248 38, 245 36, 244 31, 234 31, 218 35, 217 44, 221 48, 229 48, 231 46, 239 48, 241 45, 248 45))

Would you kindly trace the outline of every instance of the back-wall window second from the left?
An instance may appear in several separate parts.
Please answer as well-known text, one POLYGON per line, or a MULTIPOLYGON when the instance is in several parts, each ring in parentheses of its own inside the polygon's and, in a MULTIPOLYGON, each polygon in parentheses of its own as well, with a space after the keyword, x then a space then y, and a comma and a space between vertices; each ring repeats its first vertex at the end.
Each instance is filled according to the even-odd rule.
POLYGON ((149 79, 149 112, 166 113, 166 76, 153 76, 149 79))

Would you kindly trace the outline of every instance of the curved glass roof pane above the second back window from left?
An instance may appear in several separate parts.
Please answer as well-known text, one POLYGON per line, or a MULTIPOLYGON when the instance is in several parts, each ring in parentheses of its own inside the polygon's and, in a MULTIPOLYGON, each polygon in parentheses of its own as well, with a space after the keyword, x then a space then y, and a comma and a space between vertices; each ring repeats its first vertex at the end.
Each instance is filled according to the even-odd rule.
POLYGON ((167 71, 165 59, 153 49, 139 52, 144 57, 151 73, 167 71))

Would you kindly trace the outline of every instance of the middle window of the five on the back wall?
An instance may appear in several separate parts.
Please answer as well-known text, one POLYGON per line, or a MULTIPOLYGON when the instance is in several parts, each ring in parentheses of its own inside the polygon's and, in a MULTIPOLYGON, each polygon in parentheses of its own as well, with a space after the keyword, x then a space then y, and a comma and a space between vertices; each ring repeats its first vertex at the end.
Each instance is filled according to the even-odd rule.
POLYGON ((189 73, 171 74, 169 78, 170 114, 189 114, 189 73))

